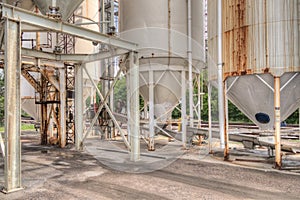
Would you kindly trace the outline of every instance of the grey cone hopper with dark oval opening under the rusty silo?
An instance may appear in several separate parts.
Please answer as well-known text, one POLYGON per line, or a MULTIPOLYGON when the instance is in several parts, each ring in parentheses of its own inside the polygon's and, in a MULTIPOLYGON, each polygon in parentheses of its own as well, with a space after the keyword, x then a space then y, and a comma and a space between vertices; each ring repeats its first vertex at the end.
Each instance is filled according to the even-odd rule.
MULTIPOLYGON (((300 74, 285 73, 280 77, 280 117, 286 120, 300 107, 300 74)), ((263 130, 274 128, 274 78, 270 74, 229 77, 228 99, 263 130), (268 116, 269 122, 260 122, 259 113, 268 116)))

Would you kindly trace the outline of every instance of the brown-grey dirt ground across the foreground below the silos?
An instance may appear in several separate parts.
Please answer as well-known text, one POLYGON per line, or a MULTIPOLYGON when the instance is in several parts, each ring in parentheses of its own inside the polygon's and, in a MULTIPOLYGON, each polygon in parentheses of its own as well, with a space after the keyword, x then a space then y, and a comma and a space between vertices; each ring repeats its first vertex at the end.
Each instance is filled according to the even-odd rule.
MULTIPOLYGON (((205 145, 181 150, 183 153, 176 154, 177 159, 169 159, 168 155, 149 156, 144 153, 144 157, 150 157, 151 162, 156 163, 155 166, 163 163, 160 160, 169 160, 166 165, 145 172, 138 171, 150 165, 144 157, 142 160, 145 161, 136 165, 126 161, 127 154, 104 151, 103 145, 102 148, 86 148, 84 152, 77 152, 72 148, 40 146, 37 137, 37 134, 22 137, 24 189, 11 194, 0 193, 0 199, 212 200, 300 197, 300 174, 297 171, 272 169, 265 155, 255 158, 264 159, 262 162, 245 162, 244 158, 254 158, 249 156, 253 154, 251 151, 233 148, 231 162, 224 162, 221 152, 215 155, 205 153, 205 145), (109 156, 101 156, 104 153, 109 156), (243 158, 242 161, 237 161, 237 157, 243 158), (118 168, 114 166, 124 167, 116 170, 118 168), (128 172, 128 169, 135 168, 138 169, 137 173, 128 172)), ((98 142, 92 139, 87 145, 93 146, 98 142)), ((143 152, 143 146, 141 150, 143 152)), ((293 159, 298 162, 297 157, 293 159)), ((0 186, 3 186, 2 158, 0 165, 0 186)))

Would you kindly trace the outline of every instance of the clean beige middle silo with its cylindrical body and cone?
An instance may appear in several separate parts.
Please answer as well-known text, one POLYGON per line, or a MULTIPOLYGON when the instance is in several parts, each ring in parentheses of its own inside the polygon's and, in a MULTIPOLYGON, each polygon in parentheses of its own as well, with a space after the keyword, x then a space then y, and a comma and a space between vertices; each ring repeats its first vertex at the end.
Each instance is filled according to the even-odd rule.
MULTIPOLYGON (((192 0, 193 72, 204 63, 202 1, 192 0)), ((164 121, 181 98, 181 72, 188 83, 188 7, 183 0, 120 1, 120 36, 139 45, 140 94, 149 102, 154 84, 154 115, 164 121)))

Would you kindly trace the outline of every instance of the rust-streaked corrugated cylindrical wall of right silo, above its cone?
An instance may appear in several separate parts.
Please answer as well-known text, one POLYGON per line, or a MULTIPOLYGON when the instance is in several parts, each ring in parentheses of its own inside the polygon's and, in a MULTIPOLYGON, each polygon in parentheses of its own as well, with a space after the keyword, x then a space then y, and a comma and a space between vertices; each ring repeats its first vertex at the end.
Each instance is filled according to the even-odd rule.
MULTIPOLYGON (((300 71, 299 0, 224 0, 224 75, 300 71)), ((216 60, 216 1, 209 6, 209 53, 216 60)), ((210 65, 214 63, 210 61, 210 65)), ((215 79, 216 71, 210 70, 215 79)))

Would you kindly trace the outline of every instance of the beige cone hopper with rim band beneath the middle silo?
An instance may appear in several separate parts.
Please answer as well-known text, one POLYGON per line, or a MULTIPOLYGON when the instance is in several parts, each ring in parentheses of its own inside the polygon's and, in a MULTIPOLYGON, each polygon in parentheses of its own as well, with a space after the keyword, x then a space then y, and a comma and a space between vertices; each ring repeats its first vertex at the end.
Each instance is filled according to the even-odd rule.
POLYGON ((172 108, 181 98, 181 70, 185 67, 183 60, 170 59, 170 63, 168 61, 168 58, 140 59, 139 66, 139 90, 146 101, 149 101, 150 70, 153 71, 154 117, 161 122, 171 117, 172 108))

